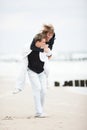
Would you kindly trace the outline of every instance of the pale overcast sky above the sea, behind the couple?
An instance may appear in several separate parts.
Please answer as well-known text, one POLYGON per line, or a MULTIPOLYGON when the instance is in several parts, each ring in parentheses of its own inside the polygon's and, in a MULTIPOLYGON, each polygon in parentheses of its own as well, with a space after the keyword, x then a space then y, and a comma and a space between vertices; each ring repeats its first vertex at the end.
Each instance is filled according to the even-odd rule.
POLYGON ((53 52, 87 52, 86 0, 0 0, 0 55, 20 54, 43 24, 53 24, 53 52))

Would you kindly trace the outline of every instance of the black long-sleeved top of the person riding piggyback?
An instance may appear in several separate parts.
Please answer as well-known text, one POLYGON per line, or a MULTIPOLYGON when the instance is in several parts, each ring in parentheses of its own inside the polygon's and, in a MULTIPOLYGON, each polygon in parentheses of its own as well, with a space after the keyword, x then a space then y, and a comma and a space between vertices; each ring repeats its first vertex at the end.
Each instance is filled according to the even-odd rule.
MULTIPOLYGON (((55 40, 55 33, 54 33, 53 37, 48 42, 46 42, 46 44, 48 44, 48 47, 51 50, 53 48, 54 40, 55 40)), ((33 50, 33 51, 39 51, 39 52, 44 51, 44 49, 41 49, 41 48, 38 48, 38 47, 35 46, 35 40, 34 39, 33 39, 32 43, 31 43, 30 49, 33 50)))

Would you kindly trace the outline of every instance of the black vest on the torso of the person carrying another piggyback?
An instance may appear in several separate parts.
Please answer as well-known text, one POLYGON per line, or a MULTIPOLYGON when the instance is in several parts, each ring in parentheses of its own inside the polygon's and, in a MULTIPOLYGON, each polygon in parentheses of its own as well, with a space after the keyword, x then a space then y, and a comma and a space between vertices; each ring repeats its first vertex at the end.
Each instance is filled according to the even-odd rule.
POLYGON ((44 62, 40 60, 39 51, 32 51, 27 57, 29 69, 38 74, 43 72, 44 62))

